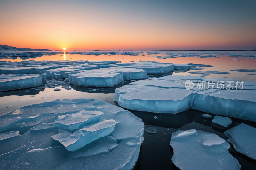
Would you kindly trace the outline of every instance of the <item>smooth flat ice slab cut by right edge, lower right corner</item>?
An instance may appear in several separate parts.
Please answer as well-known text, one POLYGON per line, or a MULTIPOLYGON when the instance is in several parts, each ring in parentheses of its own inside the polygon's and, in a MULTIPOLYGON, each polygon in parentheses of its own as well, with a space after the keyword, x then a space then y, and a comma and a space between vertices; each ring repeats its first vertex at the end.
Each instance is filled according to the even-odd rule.
POLYGON ((256 159, 256 128, 241 123, 227 131, 224 135, 228 137, 228 142, 233 144, 234 149, 252 159, 256 159))

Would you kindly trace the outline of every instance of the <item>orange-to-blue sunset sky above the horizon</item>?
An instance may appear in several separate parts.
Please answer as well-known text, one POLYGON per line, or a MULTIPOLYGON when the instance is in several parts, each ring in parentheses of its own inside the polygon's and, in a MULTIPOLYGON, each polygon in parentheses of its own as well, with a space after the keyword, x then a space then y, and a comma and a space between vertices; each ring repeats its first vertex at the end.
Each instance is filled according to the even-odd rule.
POLYGON ((256 49, 255 0, 0 0, 0 44, 60 50, 256 49))

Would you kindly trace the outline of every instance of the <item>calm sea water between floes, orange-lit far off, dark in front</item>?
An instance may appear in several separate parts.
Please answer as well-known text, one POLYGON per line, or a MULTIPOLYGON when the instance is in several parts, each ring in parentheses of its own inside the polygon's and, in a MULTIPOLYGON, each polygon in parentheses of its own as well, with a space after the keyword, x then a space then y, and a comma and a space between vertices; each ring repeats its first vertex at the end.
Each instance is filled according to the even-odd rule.
MULTIPOLYGON (((24 52, 24 51, 22 51, 24 52)), ((4 52, 4 54, 12 54, 14 52, 4 52)), ((15 53, 18 53, 15 51, 15 53)), ((116 51, 110 52, 88 52, 88 51, 52 51, 43 52, 44 56, 35 57, 0 57, 1 61, 20 62, 25 60, 35 61, 59 61, 59 60, 88 60, 88 61, 104 61, 115 60, 121 63, 132 63, 139 61, 158 61, 174 64, 204 64, 212 67, 201 67, 198 70, 174 70, 167 74, 152 74, 150 77, 163 77, 166 75, 193 75, 203 76, 204 78, 223 77, 244 81, 256 81, 256 52, 255 51, 175 51, 175 52, 159 52, 159 51, 116 51), (237 59, 237 60, 234 60, 237 59), (131 62, 132 61, 132 62, 131 62), (202 70, 200 70, 202 69, 202 70), (242 70, 241 69, 246 69, 242 70), (254 70, 254 71, 253 71, 254 70), (202 71, 205 73, 191 73, 202 71), (209 71, 228 72, 229 74, 212 74, 209 71), (189 73, 190 72, 190 73, 189 73), (209 73, 209 74, 208 74, 209 73)), ((95 87, 79 87, 71 86, 71 90, 61 89, 54 91, 52 88, 36 90, 36 88, 28 88, 23 90, 7 91, 0 94, 0 115, 9 111, 18 109, 23 106, 38 104, 57 99, 80 99, 91 98, 100 99, 110 104, 118 106, 113 101, 114 91, 123 85, 129 84, 126 81, 123 84, 114 87, 95 88, 95 87), (96 89, 95 91, 89 91, 96 89), (99 89, 99 90, 97 90, 99 89)), ((125 109, 127 110, 127 109, 125 109)), ((202 117, 204 112, 196 110, 188 110, 178 114, 155 114, 149 112, 132 111, 134 115, 141 118, 145 124, 144 142, 141 146, 140 156, 134 169, 178 169, 172 164, 173 149, 170 146, 170 140, 173 132, 178 130, 196 129, 205 132, 214 133, 221 138, 227 140, 224 131, 237 126, 240 123, 247 124, 256 128, 255 122, 244 121, 236 118, 230 118, 232 124, 226 127, 219 127, 212 124, 213 118, 202 117), (154 119, 154 117, 158 119, 154 119), (145 129, 148 126, 154 126, 157 133, 147 133, 145 129)), ((210 114, 214 117, 214 114, 210 114)), ((22 133, 22 132, 21 132, 22 133)), ((256 169, 256 161, 241 153, 236 152, 233 146, 228 149, 241 165, 242 170, 256 169)))

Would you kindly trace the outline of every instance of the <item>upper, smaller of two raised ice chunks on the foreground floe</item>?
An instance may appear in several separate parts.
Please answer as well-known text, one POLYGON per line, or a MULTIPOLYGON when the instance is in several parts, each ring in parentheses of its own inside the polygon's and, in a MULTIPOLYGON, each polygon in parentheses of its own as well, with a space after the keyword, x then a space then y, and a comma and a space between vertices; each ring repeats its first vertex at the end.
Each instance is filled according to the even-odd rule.
POLYGON ((59 116, 54 123, 59 129, 75 130, 79 129, 80 126, 98 122, 103 114, 100 111, 83 110, 79 113, 59 116))

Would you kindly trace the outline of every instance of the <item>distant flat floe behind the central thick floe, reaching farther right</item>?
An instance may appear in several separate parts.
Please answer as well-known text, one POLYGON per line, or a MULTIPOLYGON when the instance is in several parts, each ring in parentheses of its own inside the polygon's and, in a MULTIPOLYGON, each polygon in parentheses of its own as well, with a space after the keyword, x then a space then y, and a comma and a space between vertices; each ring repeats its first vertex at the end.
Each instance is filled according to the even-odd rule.
POLYGON ((174 69, 174 64, 161 62, 117 63, 117 65, 126 68, 143 69, 149 74, 168 73, 174 69))

